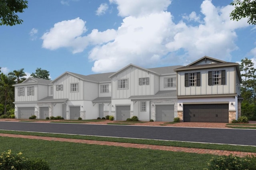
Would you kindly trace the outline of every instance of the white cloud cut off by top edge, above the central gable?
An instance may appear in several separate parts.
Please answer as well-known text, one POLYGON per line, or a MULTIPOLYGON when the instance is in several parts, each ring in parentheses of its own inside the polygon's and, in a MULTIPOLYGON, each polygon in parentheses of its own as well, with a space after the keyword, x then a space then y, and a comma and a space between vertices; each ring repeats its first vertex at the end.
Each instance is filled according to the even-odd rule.
POLYGON ((118 15, 145 16, 167 10, 171 0, 109 0, 118 5, 118 15))

